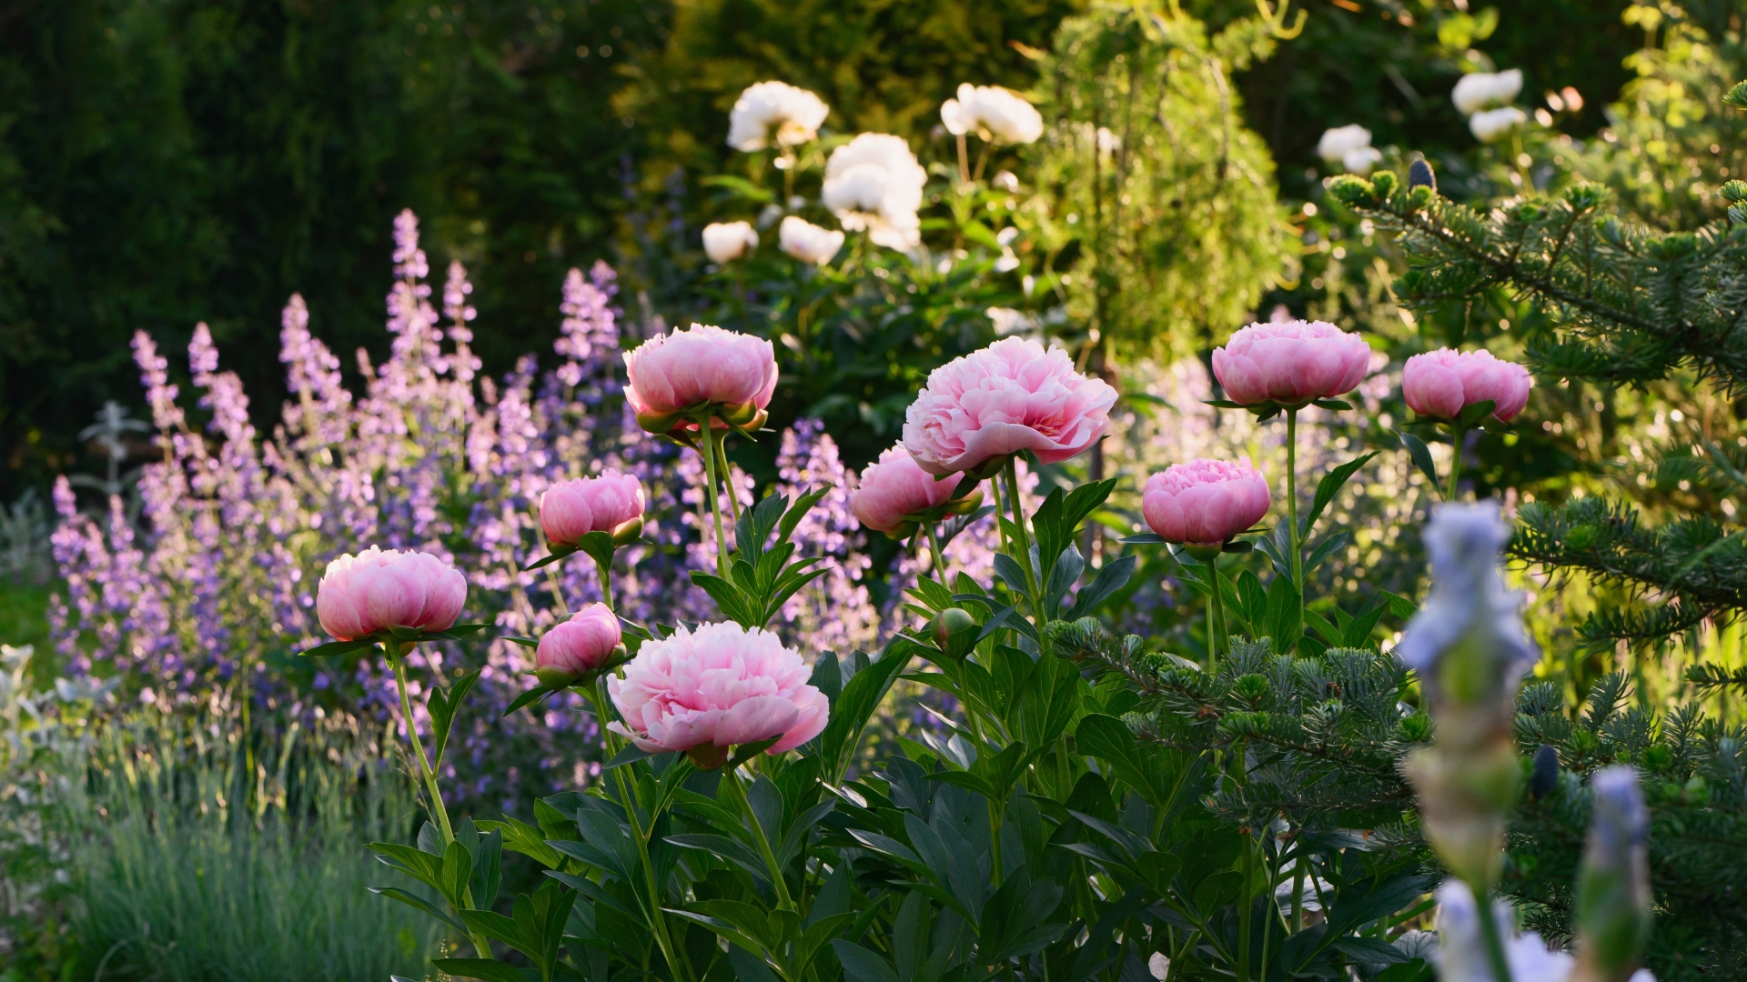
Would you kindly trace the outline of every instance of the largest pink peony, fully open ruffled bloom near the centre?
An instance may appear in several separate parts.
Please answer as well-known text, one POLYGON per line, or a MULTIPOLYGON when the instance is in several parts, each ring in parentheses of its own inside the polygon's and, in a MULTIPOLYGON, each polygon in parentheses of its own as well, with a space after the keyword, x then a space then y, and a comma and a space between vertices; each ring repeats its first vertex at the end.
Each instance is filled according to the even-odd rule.
POLYGON ((1104 435, 1116 390, 1074 370, 1067 351, 1003 337, 928 376, 903 423, 903 446, 929 474, 975 470, 1031 451, 1067 460, 1104 435))

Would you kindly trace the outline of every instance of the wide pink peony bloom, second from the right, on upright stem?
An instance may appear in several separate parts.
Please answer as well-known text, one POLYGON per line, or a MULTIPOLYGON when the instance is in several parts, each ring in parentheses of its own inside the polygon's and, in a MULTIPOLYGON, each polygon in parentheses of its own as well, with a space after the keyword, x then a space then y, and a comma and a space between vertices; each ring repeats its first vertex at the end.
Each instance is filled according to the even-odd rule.
POLYGON ((1333 323, 1253 323, 1212 351, 1212 374, 1232 402, 1305 405, 1357 388, 1371 346, 1333 323))

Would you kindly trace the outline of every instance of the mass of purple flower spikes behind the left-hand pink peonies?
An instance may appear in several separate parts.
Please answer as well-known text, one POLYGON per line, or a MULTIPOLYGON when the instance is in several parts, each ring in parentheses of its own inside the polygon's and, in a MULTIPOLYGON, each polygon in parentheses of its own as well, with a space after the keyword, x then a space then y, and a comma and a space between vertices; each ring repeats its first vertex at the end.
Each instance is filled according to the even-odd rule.
MULTIPOLYGON (((601 599, 582 554, 522 571, 545 554, 540 494, 608 468, 634 474, 648 496, 643 542, 615 563, 618 610, 643 624, 715 615, 690 580, 715 554, 702 465, 645 433, 624 402, 613 269, 596 264, 566 278, 554 369, 540 372, 529 355, 500 379, 479 376, 468 348, 477 311, 466 302, 466 271, 449 264, 440 315, 428 274, 418 220, 405 211, 395 222, 386 297, 393 341, 381 365, 358 353, 362 393, 342 384, 341 362, 311 332, 304 301, 290 299, 280 341, 292 398, 271 439, 250 425, 243 386, 220 370, 204 325, 189 346, 199 414, 183 409, 155 342, 135 337, 164 454, 142 474, 138 522, 121 498, 100 521, 77 508, 65 479, 54 491, 63 521, 52 545, 66 598, 54 599, 51 619, 75 676, 126 673, 128 690, 148 701, 218 695, 293 715, 397 715, 393 676, 379 657, 292 657, 327 640, 314 617, 327 563, 365 545, 433 552, 466 575, 463 620, 491 624, 493 636, 538 636, 601 599)), ((882 613, 893 626, 893 612, 880 612, 867 589, 870 559, 849 512, 851 481, 818 421, 781 437, 776 491, 830 488, 795 529, 800 554, 823 556, 826 575, 777 622, 809 654, 874 647, 882 613)), ((735 470, 732 486, 749 507, 751 479, 735 470)), ((985 575, 992 529, 984 521, 963 533, 949 547, 954 564, 985 575)), ((503 640, 421 645, 411 662, 414 704, 433 683, 482 671, 445 760, 468 795, 510 802, 590 772, 583 753, 597 743, 596 723, 580 697, 500 720, 533 685, 524 648, 503 640)))

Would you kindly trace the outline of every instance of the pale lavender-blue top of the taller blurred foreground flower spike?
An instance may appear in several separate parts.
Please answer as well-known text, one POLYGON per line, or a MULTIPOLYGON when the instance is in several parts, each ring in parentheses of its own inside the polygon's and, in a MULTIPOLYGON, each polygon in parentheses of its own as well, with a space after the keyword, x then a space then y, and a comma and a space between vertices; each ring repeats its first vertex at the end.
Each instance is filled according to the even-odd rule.
POLYGON ((1511 694, 1534 667, 1539 652, 1523 631, 1522 598, 1499 577, 1499 550, 1509 540, 1511 526, 1490 501, 1438 505, 1433 512, 1426 526, 1431 596, 1396 645, 1401 660, 1422 678, 1433 678, 1440 657, 1462 641, 1488 657, 1488 674, 1511 694))

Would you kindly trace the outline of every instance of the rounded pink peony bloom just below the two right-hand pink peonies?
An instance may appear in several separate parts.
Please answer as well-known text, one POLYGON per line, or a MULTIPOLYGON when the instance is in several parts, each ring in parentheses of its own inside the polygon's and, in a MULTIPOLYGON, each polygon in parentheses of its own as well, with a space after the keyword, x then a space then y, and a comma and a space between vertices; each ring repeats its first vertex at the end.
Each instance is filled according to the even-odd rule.
POLYGON ((1191 460, 1146 481, 1141 515, 1158 538, 1219 545, 1268 514, 1268 482, 1249 458, 1191 460))

